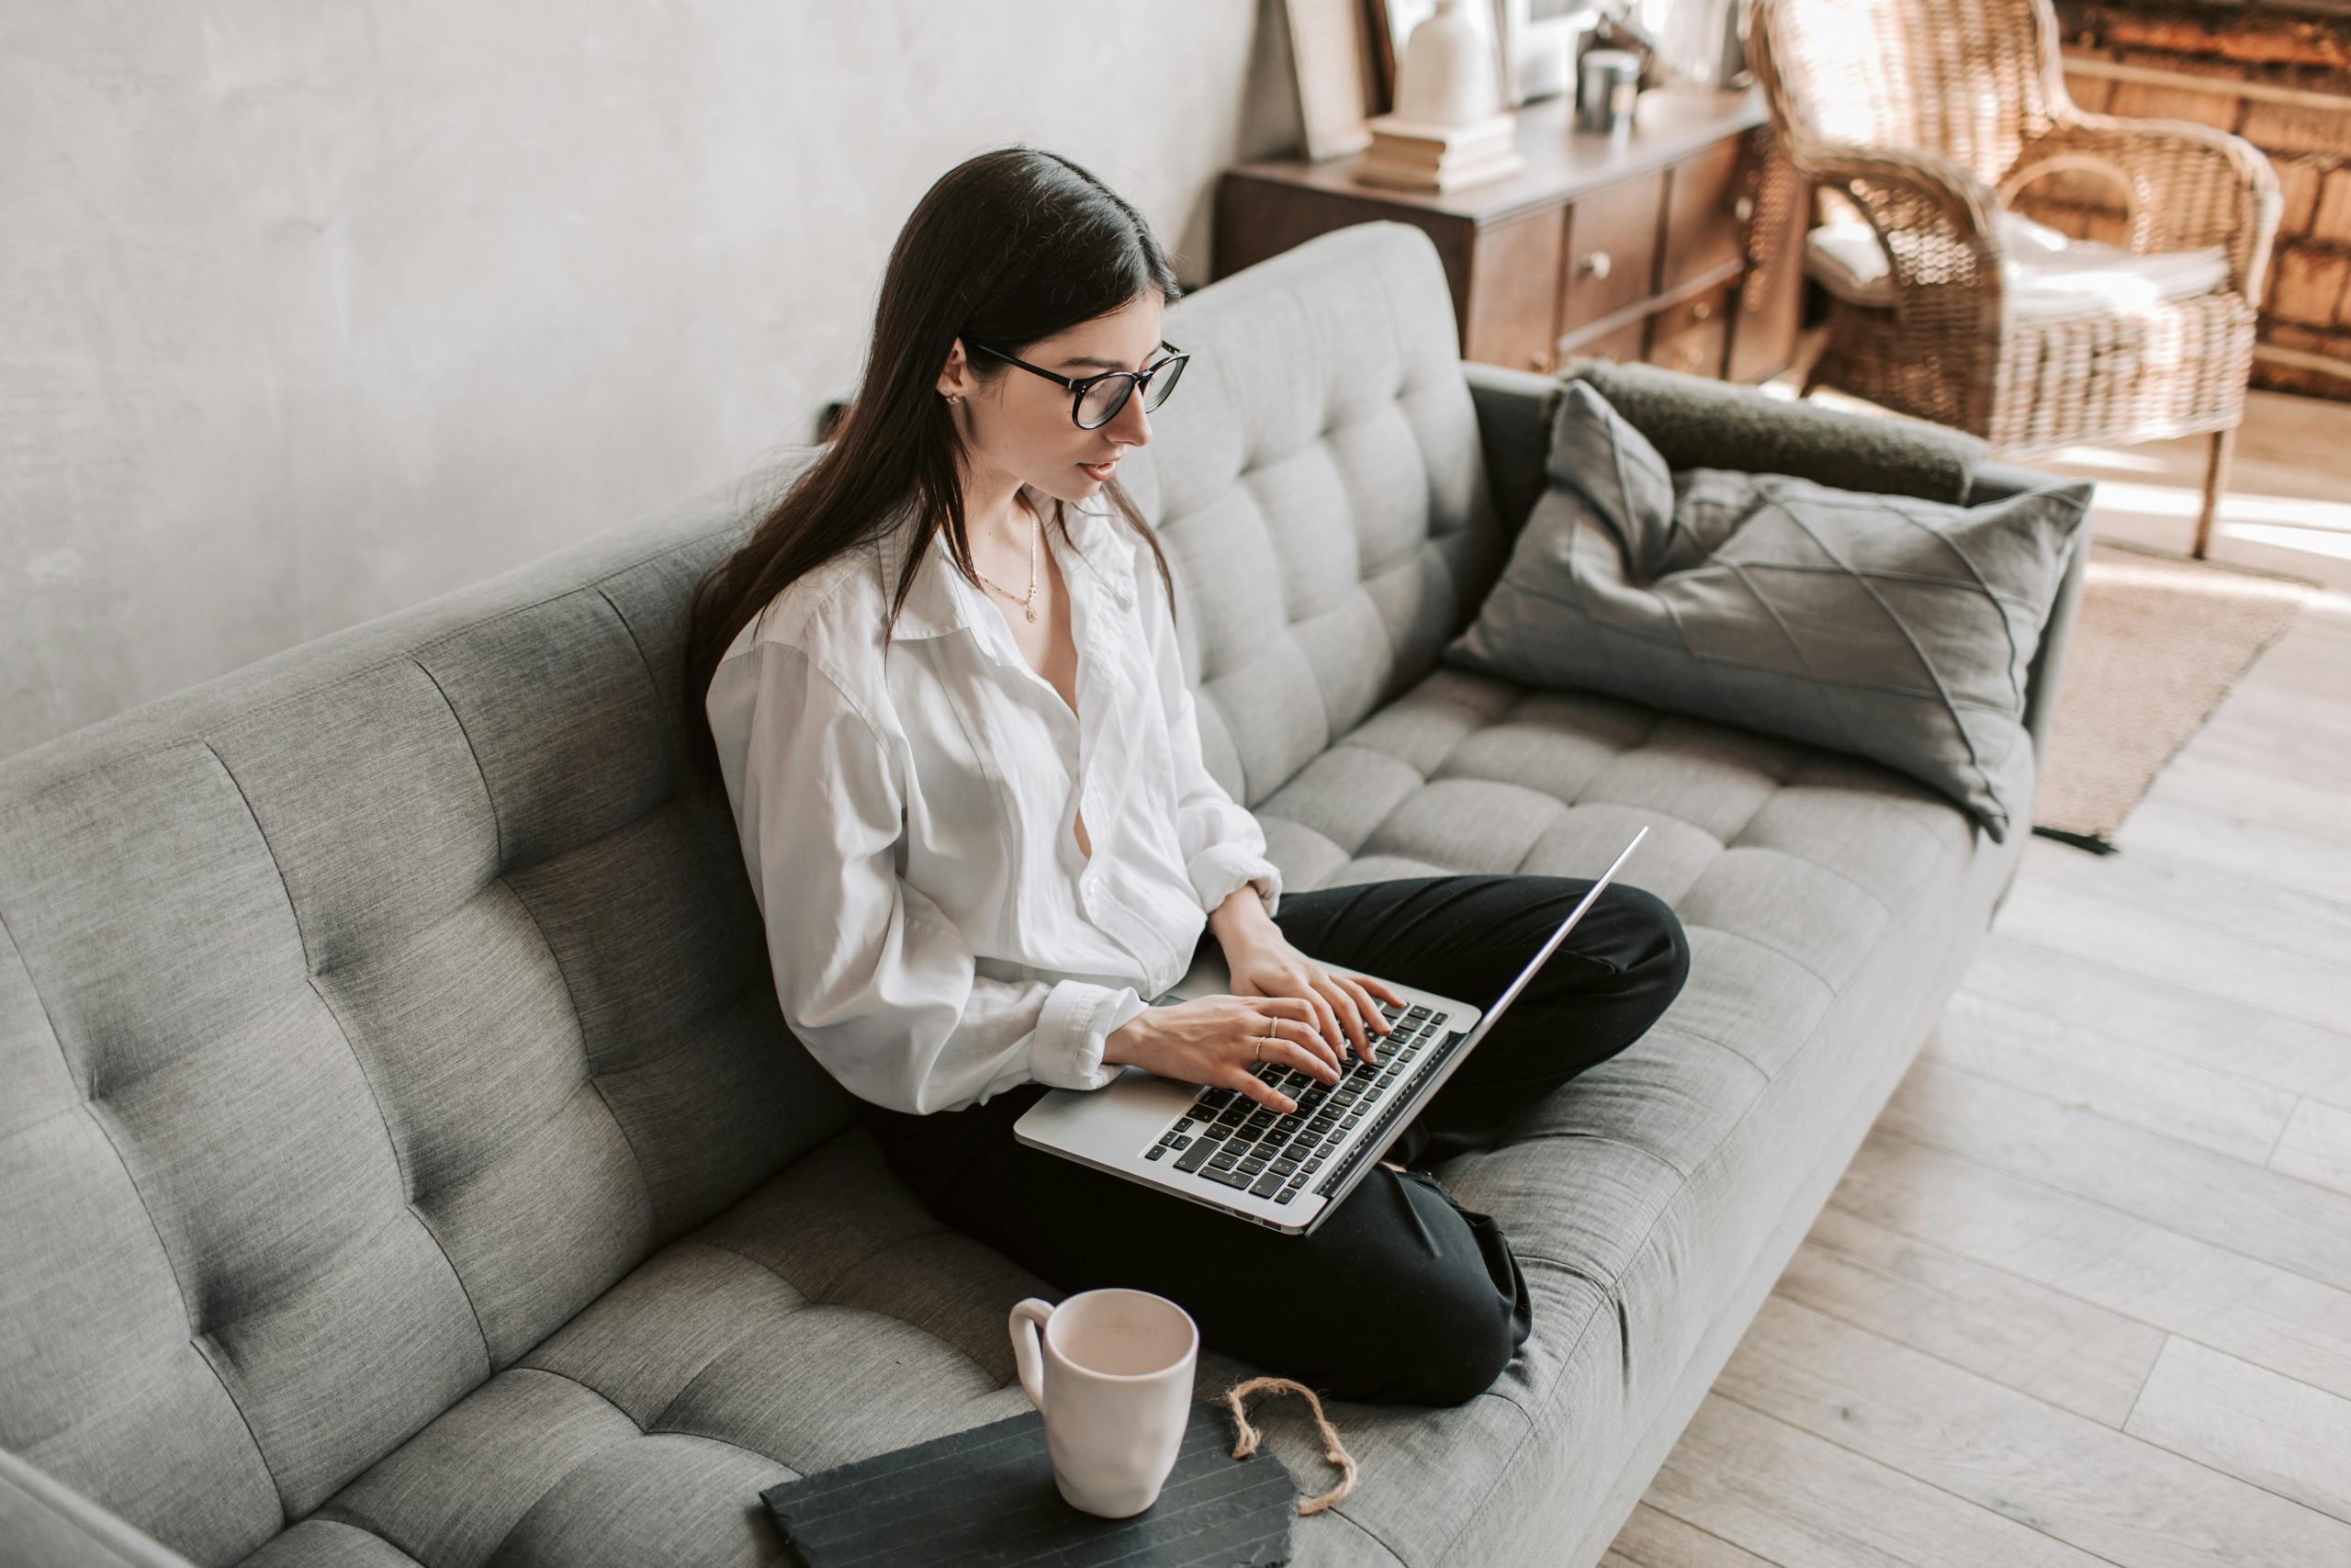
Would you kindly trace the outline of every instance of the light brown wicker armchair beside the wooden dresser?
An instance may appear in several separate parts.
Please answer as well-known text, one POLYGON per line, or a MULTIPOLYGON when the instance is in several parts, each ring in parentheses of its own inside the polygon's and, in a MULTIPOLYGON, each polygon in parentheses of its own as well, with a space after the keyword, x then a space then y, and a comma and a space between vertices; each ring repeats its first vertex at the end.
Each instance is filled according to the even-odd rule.
POLYGON ((1751 0, 1749 61, 1796 172, 1886 247, 1893 308, 1831 301, 1806 383, 1982 435, 2010 458, 2210 430, 2203 555, 2252 369, 2278 179, 2241 136, 2074 108, 2050 0, 1751 0), (2128 195, 2132 252, 2219 244, 2226 287, 2012 320, 1996 212, 2048 174, 2128 195))

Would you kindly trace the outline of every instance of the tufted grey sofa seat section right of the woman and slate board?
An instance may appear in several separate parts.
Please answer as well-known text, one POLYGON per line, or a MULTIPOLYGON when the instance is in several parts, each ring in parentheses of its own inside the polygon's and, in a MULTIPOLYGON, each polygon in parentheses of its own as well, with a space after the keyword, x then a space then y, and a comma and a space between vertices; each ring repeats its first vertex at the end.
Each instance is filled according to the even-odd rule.
MULTIPOLYGON (((1679 1375, 1768 1215, 1838 1128, 1867 1126, 1855 1100, 1890 1086, 1916 1034, 1890 1037, 1942 994, 1982 889, 2020 844, 1867 759, 1451 665, 1258 818, 1293 889, 1589 877, 1646 823, 1625 879, 1674 905, 1690 938, 1688 985, 1641 1041, 1531 1105, 1500 1147, 1436 1168, 1512 1237, 1535 1333, 1488 1394, 1415 1420, 1516 1425, 1523 1446, 1415 1465, 1422 1427, 1357 1406, 1335 1418, 1382 1481, 1340 1505, 1349 1526, 1392 1561, 1476 1561, 1483 1505, 1521 1472, 1556 1460, 1554 1490, 1606 1483, 1573 1455, 1629 1441, 1615 1422, 1679 1375)), ((1349 1561, 1302 1542, 1317 1549, 1300 1561, 1349 1561)))

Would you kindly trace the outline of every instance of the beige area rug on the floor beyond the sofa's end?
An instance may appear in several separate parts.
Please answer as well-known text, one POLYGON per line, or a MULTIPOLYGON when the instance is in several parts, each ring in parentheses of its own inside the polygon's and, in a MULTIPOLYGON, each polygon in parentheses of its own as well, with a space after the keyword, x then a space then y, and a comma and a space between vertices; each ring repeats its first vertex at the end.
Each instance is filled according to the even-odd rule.
POLYGON ((2302 578, 2092 543, 2034 832, 2111 851, 2156 771, 2316 590, 2302 578))

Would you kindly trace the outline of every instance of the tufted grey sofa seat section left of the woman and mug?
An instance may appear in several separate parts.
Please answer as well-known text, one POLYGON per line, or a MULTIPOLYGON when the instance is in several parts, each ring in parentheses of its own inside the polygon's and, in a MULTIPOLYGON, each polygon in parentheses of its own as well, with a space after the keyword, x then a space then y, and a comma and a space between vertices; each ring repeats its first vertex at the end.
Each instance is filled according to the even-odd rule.
MULTIPOLYGON (((781 1563, 759 1490, 1027 1408, 1004 1314, 1056 1298, 851 1128, 623 1276, 254 1556, 781 1563)), ((1241 1363, 1201 1356, 1201 1387, 1241 1363)))

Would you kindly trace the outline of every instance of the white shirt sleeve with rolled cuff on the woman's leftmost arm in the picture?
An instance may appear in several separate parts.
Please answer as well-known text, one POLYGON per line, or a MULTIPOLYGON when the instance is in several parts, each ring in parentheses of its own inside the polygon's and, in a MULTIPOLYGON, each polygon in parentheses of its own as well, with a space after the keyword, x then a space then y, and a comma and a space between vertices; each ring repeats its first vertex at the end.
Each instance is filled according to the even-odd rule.
POLYGON ((884 731, 804 649, 738 658, 759 665, 715 682, 710 705, 750 705, 750 745, 722 764, 792 1034, 853 1095, 910 1114, 1032 1079, 1110 1084, 1103 1048, 1143 1011, 1136 987, 980 976, 955 922, 898 877, 905 795, 884 731))

